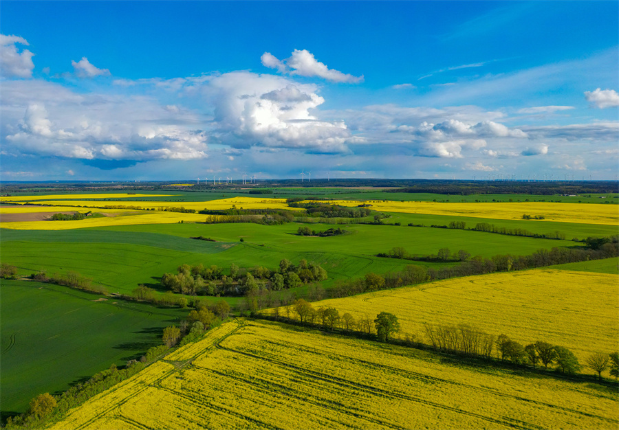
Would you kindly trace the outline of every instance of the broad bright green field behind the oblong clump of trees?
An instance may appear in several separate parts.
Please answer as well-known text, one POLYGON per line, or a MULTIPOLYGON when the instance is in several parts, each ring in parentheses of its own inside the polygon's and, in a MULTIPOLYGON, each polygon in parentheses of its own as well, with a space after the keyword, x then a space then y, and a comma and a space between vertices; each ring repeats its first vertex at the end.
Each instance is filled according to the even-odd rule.
MULTIPOLYGON (((69 221, 58 221, 65 223, 69 221)), ((76 221, 82 222, 82 221, 76 221)), ((331 225, 312 225, 327 229, 331 225)), ((479 231, 424 227, 351 225, 350 234, 327 238, 297 236, 298 224, 171 224, 131 225, 100 229, 38 231, 2 229, 3 261, 30 275, 76 271, 93 278, 109 291, 129 293, 138 284, 156 283, 152 277, 175 271, 181 264, 217 264, 228 268, 257 265, 276 269, 283 258, 295 264, 305 258, 329 273, 324 286, 368 272, 402 270, 409 260, 376 258, 395 246, 413 254, 436 254, 448 247, 485 257, 499 253, 530 254, 540 248, 576 245, 566 240, 502 236, 479 231), (219 242, 192 240, 205 236, 219 242), (244 242, 239 240, 243 238, 244 242), (61 251, 58 251, 61 250, 61 251)), ((424 263, 426 264, 426 263, 424 263)), ((426 264, 428 265, 428 264, 426 264)), ((431 265, 431 264, 429 264, 431 265)))

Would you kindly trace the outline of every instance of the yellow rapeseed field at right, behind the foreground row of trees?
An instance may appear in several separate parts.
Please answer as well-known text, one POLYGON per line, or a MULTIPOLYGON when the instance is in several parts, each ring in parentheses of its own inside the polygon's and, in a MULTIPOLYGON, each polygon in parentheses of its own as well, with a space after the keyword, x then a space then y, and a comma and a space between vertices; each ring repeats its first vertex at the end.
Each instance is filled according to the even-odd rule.
POLYGON ((618 303, 617 275, 534 269, 406 286, 313 306, 371 319, 382 311, 393 313, 402 326, 400 337, 424 339, 424 323, 470 324, 524 345, 542 340, 565 346, 584 363, 591 352, 617 350, 618 303))

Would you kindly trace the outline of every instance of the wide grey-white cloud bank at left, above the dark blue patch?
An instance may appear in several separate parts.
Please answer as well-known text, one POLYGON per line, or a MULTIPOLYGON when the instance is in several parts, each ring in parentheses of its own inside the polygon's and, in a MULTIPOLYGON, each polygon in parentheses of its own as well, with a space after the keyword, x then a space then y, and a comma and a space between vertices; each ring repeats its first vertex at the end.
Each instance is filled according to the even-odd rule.
POLYGON ((129 161, 207 156, 208 137, 191 127, 191 113, 145 98, 76 95, 49 82, 39 82, 39 93, 23 93, 20 82, 5 85, 15 107, 2 118, 7 155, 129 161))

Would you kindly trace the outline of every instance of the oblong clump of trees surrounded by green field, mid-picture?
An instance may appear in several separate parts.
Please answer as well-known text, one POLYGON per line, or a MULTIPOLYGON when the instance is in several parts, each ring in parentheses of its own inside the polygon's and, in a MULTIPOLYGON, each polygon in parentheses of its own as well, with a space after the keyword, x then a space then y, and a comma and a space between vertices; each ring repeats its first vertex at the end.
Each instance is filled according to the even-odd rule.
POLYGON ((320 264, 305 259, 294 265, 284 258, 279 262, 279 270, 274 271, 266 267, 241 269, 234 263, 230 264, 228 275, 215 265, 183 264, 177 271, 177 274, 164 273, 161 284, 175 293, 187 295, 241 296, 261 290, 298 288, 309 282, 327 279, 327 271, 320 264))

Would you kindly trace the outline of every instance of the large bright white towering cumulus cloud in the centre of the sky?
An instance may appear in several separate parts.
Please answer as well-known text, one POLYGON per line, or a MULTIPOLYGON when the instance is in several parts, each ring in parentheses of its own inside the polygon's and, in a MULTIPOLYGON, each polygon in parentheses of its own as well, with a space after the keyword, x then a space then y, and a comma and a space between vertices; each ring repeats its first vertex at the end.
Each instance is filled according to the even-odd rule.
POLYGON ((236 148, 307 148, 343 152, 351 133, 343 121, 310 113, 325 100, 312 84, 238 71, 209 82, 215 106, 215 135, 236 148))

